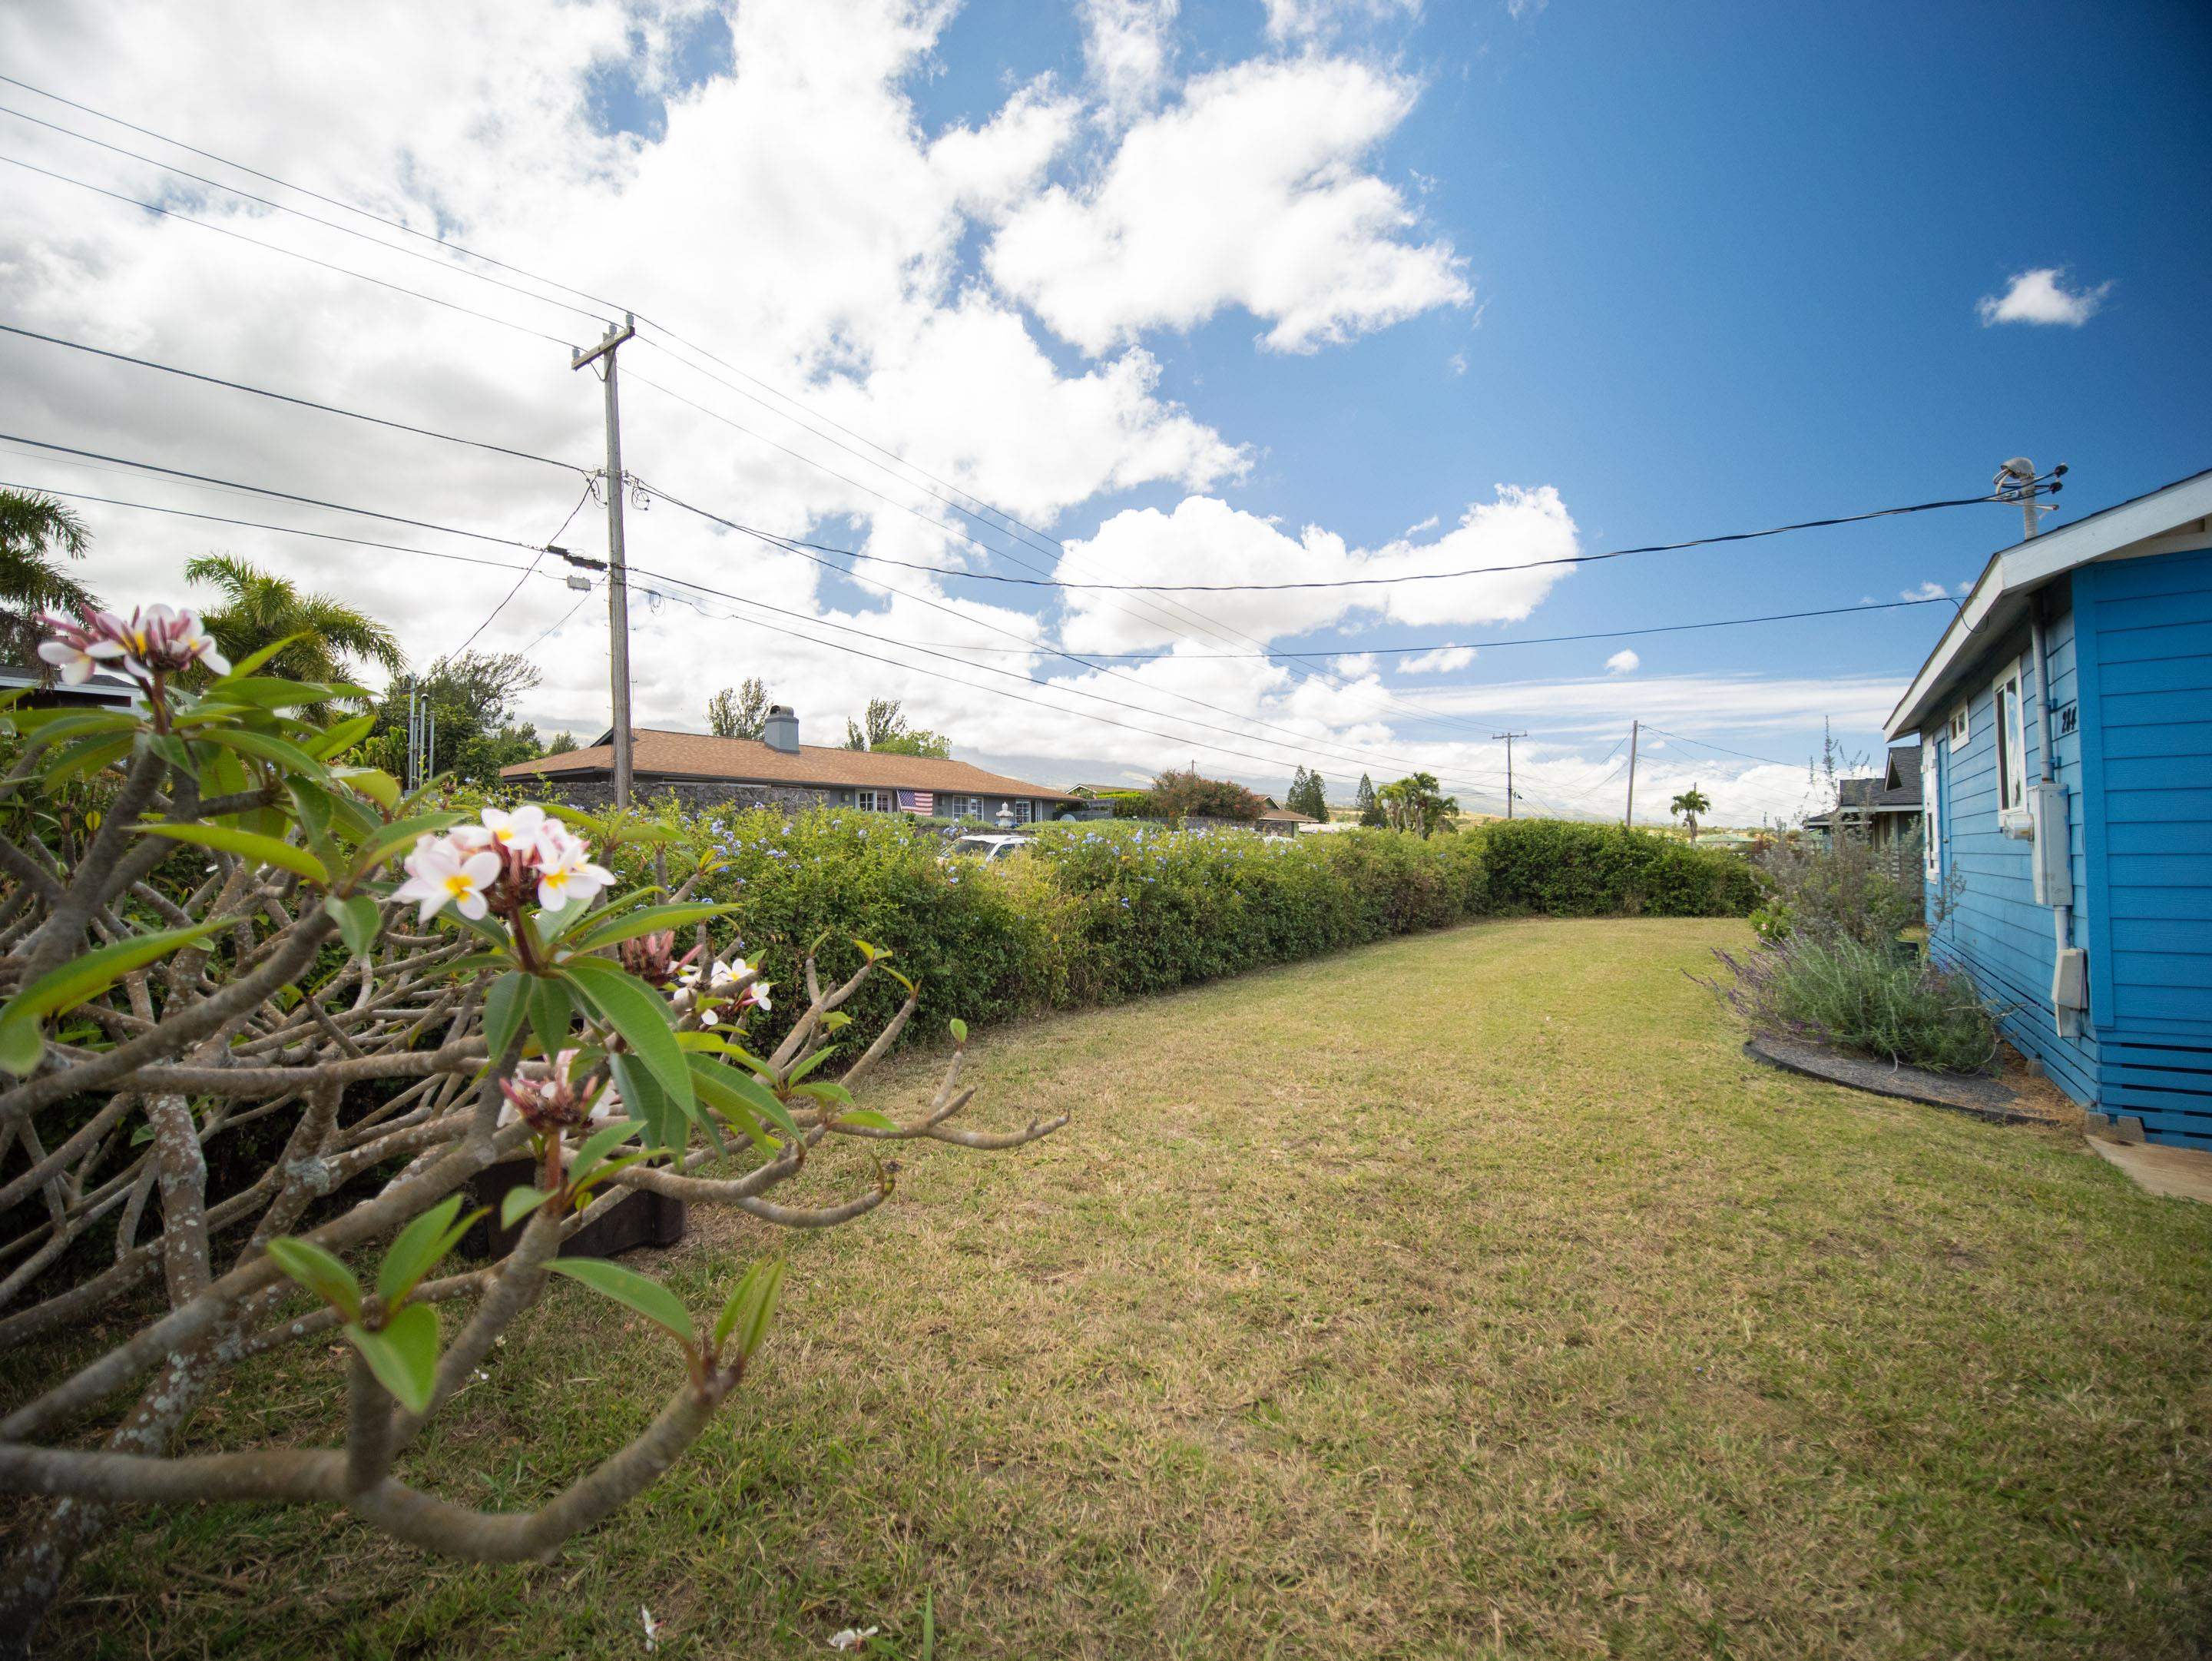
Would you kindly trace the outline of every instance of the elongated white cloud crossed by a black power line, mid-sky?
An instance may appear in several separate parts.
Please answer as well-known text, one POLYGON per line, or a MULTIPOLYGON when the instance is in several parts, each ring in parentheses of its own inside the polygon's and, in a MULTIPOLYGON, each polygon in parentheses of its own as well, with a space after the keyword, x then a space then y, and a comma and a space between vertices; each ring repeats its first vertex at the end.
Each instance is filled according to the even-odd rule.
POLYGON ((1128 509, 1095 535, 1071 540, 1060 573, 1068 582, 1340 582, 1347 577, 1405 577, 1429 571, 1473 571, 1371 588, 1272 588, 1234 595, 1159 595, 1130 604, 1128 595, 1073 591, 1064 637, 1077 650, 1106 652, 1164 646, 1179 637, 1164 604, 1194 604, 1232 615, 1237 628, 1259 639, 1281 639, 1327 628, 1347 617, 1387 617, 1400 624, 1506 624, 1524 619, 1568 566, 1537 566, 1575 551, 1575 522, 1559 493, 1498 487, 1460 522, 1429 542, 1398 540, 1380 549, 1352 549, 1321 526, 1296 537, 1272 520, 1210 495, 1188 495, 1172 513, 1128 509))

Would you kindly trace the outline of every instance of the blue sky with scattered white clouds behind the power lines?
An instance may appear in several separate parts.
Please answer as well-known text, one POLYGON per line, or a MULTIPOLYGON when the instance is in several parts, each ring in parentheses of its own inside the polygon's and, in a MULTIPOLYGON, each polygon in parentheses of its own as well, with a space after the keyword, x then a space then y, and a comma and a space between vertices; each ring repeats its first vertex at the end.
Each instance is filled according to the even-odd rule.
MULTIPOLYGON (((2212 462, 2201 7, 580 0, 531 31, 495 4, 456 7, 436 53, 407 9, 274 27, 232 9, 259 42, 243 60, 210 44, 221 29, 153 4, 0 20, 0 49, 38 84, 617 294, 796 391, 803 407, 748 400, 650 341, 639 380, 708 409, 655 385, 626 400, 637 473, 785 535, 1022 573, 1004 537, 960 542, 971 526, 847 429, 1064 540, 1062 575, 1164 582, 1520 564, 1971 495, 2015 453, 2068 462, 2064 520, 2212 462), (175 91, 179 60, 208 97, 175 91), (363 77, 405 91, 358 100, 363 77), (1307 161, 1272 166, 1307 142, 1307 161), (1228 221, 1239 230, 1217 237, 1228 221), (1276 239, 1283 226, 1298 230, 1276 239), (2033 272, 2053 276, 2022 294, 2057 294, 2046 316, 2075 296, 2068 321, 1986 323, 1982 301, 2033 272)), ((9 137, 42 166, 148 188, 66 139, 9 137)), ((168 188, 254 237, 422 281, 420 263, 374 265, 358 241, 168 188)), ((33 327, 305 378, 562 456, 597 447, 591 389, 560 352, 204 250, 175 226, 108 223, 66 186, 33 181, 24 201, 0 292, 33 327)), ((460 279, 442 292, 595 334, 460 279)), ((135 442, 117 453, 223 471, 217 456, 226 478, 321 482, 352 502, 398 491, 458 524, 522 529, 568 504, 460 460, 425 471, 383 440, 210 425, 197 403, 49 385, 42 358, 4 367, 49 431, 135 442)), ((91 487, 66 471, 31 482, 91 487)), ((159 582, 197 551, 102 513, 119 577, 159 582)), ((639 608, 639 719, 699 725, 714 683, 759 670, 810 739, 891 692, 960 754, 1051 783, 1194 756, 1263 787, 1312 761, 1349 794, 1360 772, 1427 765, 1484 807, 1502 770, 1489 732, 1511 725, 1531 734, 1517 761, 1533 807, 1617 812, 1619 739, 1641 717, 1717 745, 1650 739, 1641 803, 1694 779, 1723 818, 1756 821, 1803 805, 1825 719, 1847 750, 1878 752, 1938 606, 1489 641, 1955 588, 2015 531, 2013 509, 1955 509, 1451 593, 1413 584, 1385 617, 1345 595, 1303 610, 1214 595, 1188 602, 1203 621, 1161 628, 1139 602, 878 564, 834 575, 664 506, 633 529, 633 557, 670 575, 666 602, 639 608), (854 635, 774 637, 772 619, 681 582, 984 668, 902 646, 883 650, 936 675, 858 661, 838 650, 854 635), (1225 630, 1345 661, 1296 679, 1206 659, 1243 644, 1225 630), (1006 655, 1009 635, 1037 650, 1006 655), (1099 677, 1048 641, 1181 657, 1099 677), (1429 672, 1358 657, 1413 641, 1482 650, 1429 672)), ((380 606, 416 655, 489 613, 487 646, 544 659, 533 717, 604 719, 604 626, 591 606, 564 621, 575 597, 549 577, 502 610, 500 573, 425 586, 409 562, 246 542, 380 606)))

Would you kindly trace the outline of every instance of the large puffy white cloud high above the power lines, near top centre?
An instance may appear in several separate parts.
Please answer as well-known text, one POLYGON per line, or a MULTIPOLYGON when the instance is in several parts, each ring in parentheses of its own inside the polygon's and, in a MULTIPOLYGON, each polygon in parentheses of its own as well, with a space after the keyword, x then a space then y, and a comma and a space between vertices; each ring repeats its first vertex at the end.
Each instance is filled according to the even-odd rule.
POLYGON ((998 285, 1088 354, 1190 330, 1228 305, 1312 352, 1473 290, 1449 241, 1411 241, 1405 197, 1363 170, 1418 86, 1360 62, 1245 62, 1137 122, 1086 186, 1015 208, 989 248, 998 285))

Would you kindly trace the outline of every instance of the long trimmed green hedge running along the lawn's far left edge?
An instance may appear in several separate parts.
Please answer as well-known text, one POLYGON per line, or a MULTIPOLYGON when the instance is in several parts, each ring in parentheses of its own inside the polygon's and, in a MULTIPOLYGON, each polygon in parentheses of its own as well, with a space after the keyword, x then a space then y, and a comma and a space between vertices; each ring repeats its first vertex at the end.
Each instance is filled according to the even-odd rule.
MULTIPOLYGON (((1084 821, 1040 825, 1033 854, 945 858, 898 816, 816 809, 664 821, 672 869, 739 905, 745 951, 787 980, 821 940, 825 975, 858 936, 922 984, 920 1031, 1108 1004, 1482 916, 1743 916, 1734 854, 1613 825, 1511 821, 1429 840, 1387 829, 1272 838, 1084 821), (690 858, 686 858, 690 856, 690 858)), ((898 1002, 878 978, 854 1015, 898 1002)), ((781 1031, 792 997, 779 1000, 781 1031)))

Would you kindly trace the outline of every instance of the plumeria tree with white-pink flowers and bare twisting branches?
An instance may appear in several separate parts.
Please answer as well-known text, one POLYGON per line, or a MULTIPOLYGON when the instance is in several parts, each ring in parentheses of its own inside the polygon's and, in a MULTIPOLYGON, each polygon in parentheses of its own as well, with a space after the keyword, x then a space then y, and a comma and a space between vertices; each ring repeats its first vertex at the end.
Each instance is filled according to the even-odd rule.
POLYGON ((772 986, 726 936, 732 907, 688 898, 710 867, 615 894, 619 825, 469 814, 347 765, 374 714, 332 719, 356 688, 268 675, 285 641, 232 666, 190 610, 51 624, 64 679, 117 670, 144 701, 0 706, 0 1345, 126 1336, 0 1418, 0 1491, 49 1502, 0 1577, 0 1646, 29 1646, 122 1504, 325 1506, 453 1557, 544 1557, 699 1435, 783 1281, 754 1263, 708 1320, 562 1241, 637 1192, 834 1228, 891 1194, 887 1141, 1015 1148, 1064 1124, 953 1124, 973 1097, 958 1022, 925 1108, 858 1106, 918 997, 867 944, 841 984, 790 964, 803 1009, 757 1053, 772 986), (863 1044, 841 1006, 878 975, 907 997, 863 1044), (854 1143, 845 1199, 774 1197, 854 1143), (509 1161, 529 1172, 491 1197, 511 1252, 449 1267, 482 1214, 465 1192, 509 1161), (664 1329, 677 1391, 535 1511, 411 1484, 422 1427, 553 1274, 664 1329), (232 1369, 299 1343, 343 1356, 341 1444, 177 1446, 232 1369))

